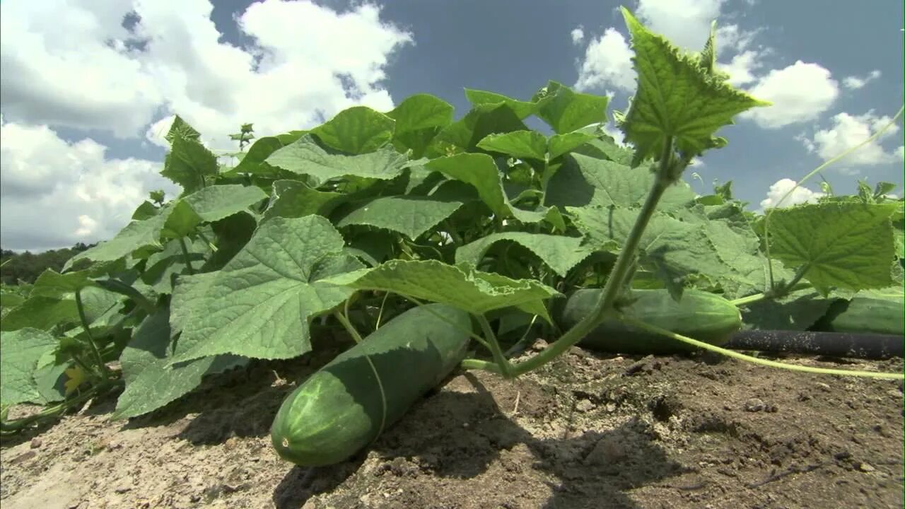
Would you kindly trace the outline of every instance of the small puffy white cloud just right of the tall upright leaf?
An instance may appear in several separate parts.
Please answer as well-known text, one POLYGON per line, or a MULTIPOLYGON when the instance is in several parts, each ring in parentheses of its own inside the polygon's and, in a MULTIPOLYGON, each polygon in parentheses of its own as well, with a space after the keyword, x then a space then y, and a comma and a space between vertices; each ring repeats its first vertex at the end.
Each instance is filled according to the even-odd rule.
POLYGON ((777 129, 816 119, 839 96, 839 85, 824 67, 799 60, 770 71, 748 93, 773 102, 773 106, 748 110, 739 117, 754 120, 762 128, 777 129))

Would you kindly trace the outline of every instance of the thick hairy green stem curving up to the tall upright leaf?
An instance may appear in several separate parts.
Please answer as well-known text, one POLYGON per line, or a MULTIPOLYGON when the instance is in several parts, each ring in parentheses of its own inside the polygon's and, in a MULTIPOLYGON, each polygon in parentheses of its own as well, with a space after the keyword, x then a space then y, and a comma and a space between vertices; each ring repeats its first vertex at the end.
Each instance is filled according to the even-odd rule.
POLYGON ((625 245, 616 258, 613 271, 604 285, 604 291, 600 293, 594 311, 588 313, 585 318, 576 323, 569 329, 559 340, 554 341, 546 349, 540 351, 538 355, 516 364, 513 364, 512 376, 519 376, 530 370, 536 370, 539 367, 554 360, 564 351, 581 341, 588 332, 592 331, 595 326, 602 322, 608 312, 613 309, 616 297, 619 296, 623 289, 623 282, 626 274, 628 274, 634 264, 635 254, 638 251, 638 245, 641 243, 641 235, 644 229, 651 221, 654 212, 657 209, 657 203, 672 183, 669 173, 672 164, 672 139, 668 139, 664 144, 663 152, 660 158, 660 166, 657 171, 657 178, 653 182, 651 192, 644 200, 638 219, 632 226, 632 231, 625 240, 625 245))

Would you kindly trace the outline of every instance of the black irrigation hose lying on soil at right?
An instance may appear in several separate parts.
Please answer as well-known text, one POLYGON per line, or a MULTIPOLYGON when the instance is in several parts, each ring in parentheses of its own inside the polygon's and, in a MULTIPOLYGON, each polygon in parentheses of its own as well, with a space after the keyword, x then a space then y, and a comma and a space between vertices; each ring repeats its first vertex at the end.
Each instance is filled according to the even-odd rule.
POLYGON ((817 331, 739 331, 722 345, 729 350, 755 350, 786 353, 889 359, 903 357, 902 336, 817 331))

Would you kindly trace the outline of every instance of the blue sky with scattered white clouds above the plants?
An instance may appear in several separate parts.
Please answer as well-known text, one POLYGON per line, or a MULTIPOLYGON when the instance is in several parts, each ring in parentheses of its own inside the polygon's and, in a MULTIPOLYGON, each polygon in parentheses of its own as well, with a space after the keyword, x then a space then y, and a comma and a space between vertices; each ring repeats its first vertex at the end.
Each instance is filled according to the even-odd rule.
MULTIPOLYGON (((554 80, 624 110, 635 76, 620 5, 690 51, 716 20, 719 67, 774 103, 719 131, 729 146, 686 172, 700 194, 732 180, 750 209, 776 206, 902 105, 900 0, 2 0, 0 245, 108 239, 149 191, 175 197, 158 172, 176 113, 225 152, 243 123, 258 137, 309 129, 414 93, 458 119, 466 88, 529 100, 554 80)), ((901 197, 902 135, 898 120, 823 178, 837 194, 885 180, 901 197)), ((813 201, 820 182, 780 206, 813 201)))

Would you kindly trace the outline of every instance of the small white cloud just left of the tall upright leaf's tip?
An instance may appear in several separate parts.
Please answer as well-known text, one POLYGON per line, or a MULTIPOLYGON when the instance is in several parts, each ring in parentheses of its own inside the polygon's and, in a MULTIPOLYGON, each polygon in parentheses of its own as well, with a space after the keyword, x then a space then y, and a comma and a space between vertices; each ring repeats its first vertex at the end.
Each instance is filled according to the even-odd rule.
POLYGON ((633 91, 636 74, 632 56, 623 34, 614 28, 607 28, 602 36, 587 45, 576 90, 586 91, 609 85, 621 91, 633 91))

